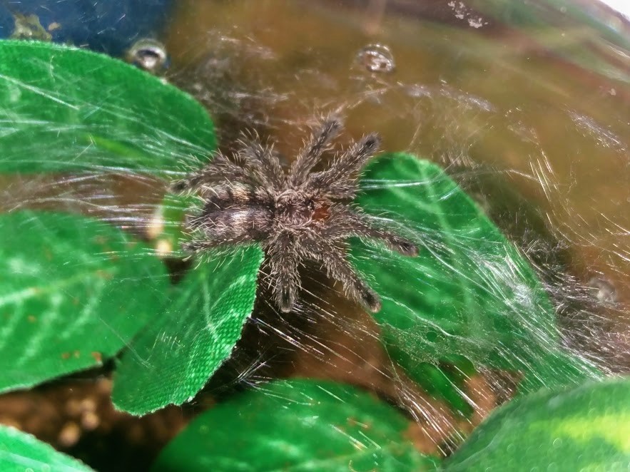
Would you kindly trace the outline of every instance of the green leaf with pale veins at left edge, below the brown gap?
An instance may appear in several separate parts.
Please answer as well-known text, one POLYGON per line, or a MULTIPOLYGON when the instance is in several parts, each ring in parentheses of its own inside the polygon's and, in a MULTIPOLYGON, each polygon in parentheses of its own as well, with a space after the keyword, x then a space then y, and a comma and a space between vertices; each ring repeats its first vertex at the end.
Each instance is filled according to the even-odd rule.
POLYGON ((0 391, 101 365, 156 315, 167 288, 151 251, 106 223, 0 215, 0 391))

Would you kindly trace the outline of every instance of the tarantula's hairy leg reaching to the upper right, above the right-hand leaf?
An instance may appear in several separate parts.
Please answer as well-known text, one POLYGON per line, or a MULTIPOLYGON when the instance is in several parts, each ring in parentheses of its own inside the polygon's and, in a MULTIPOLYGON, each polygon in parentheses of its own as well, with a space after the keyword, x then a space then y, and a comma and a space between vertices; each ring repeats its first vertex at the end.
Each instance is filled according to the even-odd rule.
POLYGON ((352 198, 356 193, 356 178, 353 175, 365 166, 377 152, 380 137, 376 133, 365 135, 353 144, 350 149, 332 160, 326 170, 313 173, 308 178, 308 187, 317 188, 337 198, 352 198))

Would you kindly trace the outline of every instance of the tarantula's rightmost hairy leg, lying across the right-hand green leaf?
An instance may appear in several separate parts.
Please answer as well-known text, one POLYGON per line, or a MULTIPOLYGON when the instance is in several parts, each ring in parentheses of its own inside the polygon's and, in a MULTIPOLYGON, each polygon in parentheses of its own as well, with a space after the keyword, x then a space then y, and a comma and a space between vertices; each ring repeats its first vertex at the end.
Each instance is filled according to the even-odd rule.
POLYGON ((365 215, 365 213, 337 207, 331 212, 324 237, 345 239, 348 236, 385 242, 390 250, 400 252, 405 256, 418 255, 418 247, 414 242, 400 237, 382 225, 375 224, 373 217, 365 215))

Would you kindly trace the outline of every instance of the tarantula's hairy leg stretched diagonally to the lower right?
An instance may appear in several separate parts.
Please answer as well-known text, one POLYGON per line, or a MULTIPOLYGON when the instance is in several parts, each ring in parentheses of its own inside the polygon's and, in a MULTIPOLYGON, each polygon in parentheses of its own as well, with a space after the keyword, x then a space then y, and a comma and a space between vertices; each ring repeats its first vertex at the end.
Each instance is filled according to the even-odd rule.
POLYGON ((310 257, 322 262, 328 277, 341 282, 347 295, 363 304, 370 312, 381 309, 378 294, 357 274, 345 257, 345 251, 330 242, 317 240, 313 245, 305 245, 310 257), (314 246, 310 248, 309 246, 314 246))

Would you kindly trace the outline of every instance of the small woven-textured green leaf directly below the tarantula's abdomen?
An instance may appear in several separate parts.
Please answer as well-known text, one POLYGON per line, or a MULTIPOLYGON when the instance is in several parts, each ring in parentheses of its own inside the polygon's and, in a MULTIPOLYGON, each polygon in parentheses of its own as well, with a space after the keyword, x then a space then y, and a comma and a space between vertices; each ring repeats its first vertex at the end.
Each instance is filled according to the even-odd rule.
POLYGON ((263 251, 251 245, 215 253, 186 275, 156 322, 116 370, 118 409, 146 414, 190 401, 230 356, 250 316, 263 251))

